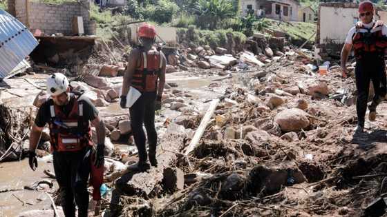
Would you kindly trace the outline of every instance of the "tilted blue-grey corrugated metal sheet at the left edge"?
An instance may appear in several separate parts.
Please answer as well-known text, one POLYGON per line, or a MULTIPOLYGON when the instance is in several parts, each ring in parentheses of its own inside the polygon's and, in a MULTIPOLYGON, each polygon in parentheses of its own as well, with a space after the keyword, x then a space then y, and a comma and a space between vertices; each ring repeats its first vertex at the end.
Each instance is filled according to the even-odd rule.
POLYGON ((0 79, 8 77, 38 45, 23 23, 0 10, 0 79))

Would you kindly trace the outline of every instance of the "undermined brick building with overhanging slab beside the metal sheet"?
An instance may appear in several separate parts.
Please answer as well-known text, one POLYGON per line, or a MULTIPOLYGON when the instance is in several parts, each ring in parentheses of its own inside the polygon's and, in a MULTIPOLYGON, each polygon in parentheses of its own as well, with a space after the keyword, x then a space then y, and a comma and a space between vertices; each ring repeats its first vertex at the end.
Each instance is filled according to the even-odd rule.
POLYGON ((39 41, 30 54, 35 63, 70 67, 87 58, 97 39, 95 21, 90 19, 90 4, 89 0, 60 4, 9 0, 8 11, 39 41))

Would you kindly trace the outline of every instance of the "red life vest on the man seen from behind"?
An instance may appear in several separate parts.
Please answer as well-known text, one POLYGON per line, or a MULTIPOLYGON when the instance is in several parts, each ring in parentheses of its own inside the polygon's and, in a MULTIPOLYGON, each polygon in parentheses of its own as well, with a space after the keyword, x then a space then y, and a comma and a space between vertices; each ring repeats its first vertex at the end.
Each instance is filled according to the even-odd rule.
POLYGON ((135 69, 131 86, 140 92, 155 92, 162 68, 162 56, 158 50, 140 54, 140 66, 135 69))

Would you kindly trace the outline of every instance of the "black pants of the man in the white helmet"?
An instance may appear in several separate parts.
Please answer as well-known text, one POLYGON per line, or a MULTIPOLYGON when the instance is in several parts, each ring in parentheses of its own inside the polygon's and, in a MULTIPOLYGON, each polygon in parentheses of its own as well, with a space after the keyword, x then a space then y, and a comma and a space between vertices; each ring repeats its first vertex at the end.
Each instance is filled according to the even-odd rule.
POLYGON ((54 170, 66 217, 75 217, 75 203, 78 216, 87 217, 88 176, 90 175, 91 148, 79 152, 54 152, 54 170), (75 199, 75 203, 74 203, 75 199))

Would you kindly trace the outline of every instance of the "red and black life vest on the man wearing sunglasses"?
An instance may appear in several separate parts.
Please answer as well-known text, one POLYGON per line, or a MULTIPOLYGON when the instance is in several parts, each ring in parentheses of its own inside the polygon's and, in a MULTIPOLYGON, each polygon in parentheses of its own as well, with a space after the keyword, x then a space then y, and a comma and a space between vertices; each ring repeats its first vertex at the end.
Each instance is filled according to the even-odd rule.
POLYGON ((361 59, 370 54, 376 54, 383 57, 384 50, 387 48, 387 37, 381 32, 383 25, 372 25, 372 28, 365 28, 364 25, 356 28, 352 36, 352 45, 355 57, 361 59))

